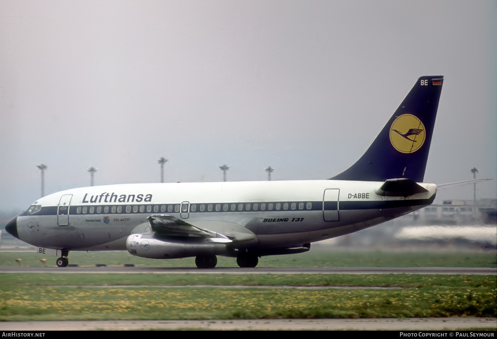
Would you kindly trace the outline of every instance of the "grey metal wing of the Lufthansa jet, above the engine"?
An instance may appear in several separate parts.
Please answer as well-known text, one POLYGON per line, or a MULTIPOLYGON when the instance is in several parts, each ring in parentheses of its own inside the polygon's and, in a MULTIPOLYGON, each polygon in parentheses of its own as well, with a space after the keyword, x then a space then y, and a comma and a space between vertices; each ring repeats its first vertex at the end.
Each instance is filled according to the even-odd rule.
POLYGON ((167 214, 154 214, 147 218, 152 231, 162 236, 191 236, 207 238, 209 242, 257 241, 254 233, 232 222, 208 221, 187 223, 167 214))

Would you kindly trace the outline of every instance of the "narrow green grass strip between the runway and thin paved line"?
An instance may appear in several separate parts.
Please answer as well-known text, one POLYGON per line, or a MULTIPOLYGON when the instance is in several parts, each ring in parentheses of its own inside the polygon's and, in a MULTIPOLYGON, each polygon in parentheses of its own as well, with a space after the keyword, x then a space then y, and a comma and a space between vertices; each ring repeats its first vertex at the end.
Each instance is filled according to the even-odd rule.
POLYGON ((246 285, 246 286, 381 286, 497 287, 495 276, 408 274, 71 274, 1 273, 0 290, 23 286, 63 285, 246 285))

